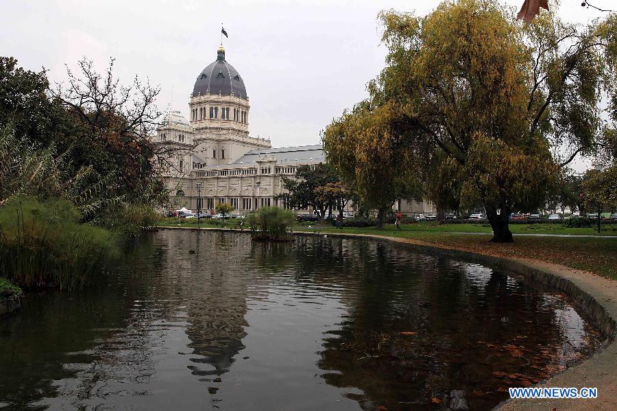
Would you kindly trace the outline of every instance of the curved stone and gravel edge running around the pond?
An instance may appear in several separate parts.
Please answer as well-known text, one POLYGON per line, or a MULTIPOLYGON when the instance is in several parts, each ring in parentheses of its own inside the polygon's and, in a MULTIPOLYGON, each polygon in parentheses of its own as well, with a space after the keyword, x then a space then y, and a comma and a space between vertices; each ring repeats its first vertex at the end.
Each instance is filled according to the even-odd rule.
MULTIPOLYGON (((234 233, 250 233, 247 230, 235 228, 193 228, 193 227, 160 227, 160 229, 182 229, 193 231, 228 231, 234 233)), ((304 237, 324 237, 324 234, 294 231, 294 235, 304 237)), ((536 384, 536 386, 551 387, 598 387, 598 399, 594 400, 508 400, 500 403, 500 410, 614 410, 617 403, 617 281, 598 276, 591 272, 576 270, 540 260, 496 257, 493 255, 472 253, 457 248, 429 244, 415 239, 388 237, 387 235, 327 233, 328 237, 350 239, 373 239, 390 242, 421 250, 429 254, 461 258, 465 261, 485 263, 498 269, 509 270, 524 277, 531 283, 550 287, 562 292, 583 309, 607 338, 605 347, 601 347, 583 362, 566 368, 557 375, 536 384), (584 402, 583 402, 584 401, 584 402), (592 403, 588 401, 593 401, 592 403)))

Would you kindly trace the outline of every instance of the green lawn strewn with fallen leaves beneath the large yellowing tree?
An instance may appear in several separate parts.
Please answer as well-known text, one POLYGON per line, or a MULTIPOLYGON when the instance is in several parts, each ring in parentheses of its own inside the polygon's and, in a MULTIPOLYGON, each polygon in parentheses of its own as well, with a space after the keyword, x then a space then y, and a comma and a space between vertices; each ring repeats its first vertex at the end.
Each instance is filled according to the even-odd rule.
MULTIPOLYGON (((544 225, 544 224, 543 224, 544 225)), ((550 225, 550 224, 546 224, 550 225)), ((612 279, 617 279, 617 238, 590 238, 590 237, 515 237, 514 244, 494 244, 489 242, 491 235, 461 234, 452 229, 457 226, 478 226, 475 229, 484 228, 481 224, 452 224, 444 227, 429 226, 426 224, 409 224, 403 226, 402 231, 396 231, 394 225, 387 225, 382 230, 376 227, 366 228, 341 228, 319 227, 322 233, 359 233, 389 235, 391 237, 403 237, 417 239, 431 244, 441 244, 460 248, 462 250, 496 255, 498 257, 522 257, 540 259, 551 263, 557 263, 579 270, 587 270, 612 279), (424 229, 422 229, 424 228, 424 229)), ((521 228, 524 225, 520 226, 521 228)), ((474 229, 470 227, 471 229, 474 229)), ((296 230, 315 231, 307 227, 298 227, 296 230)), ((573 234, 572 230, 586 230, 588 228, 568 228, 568 232, 559 234, 573 234)), ((488 232, 490 228, 488 228, 488 232)), ((482 233, 483 231, 468 231, 470 233, 482 233)), ((518 233, 519 231, 515 231, 518 233)), ((538 233, 540 231, 535 231, 538 233)), ((551 231, 555 233, 555 231, 551 231)))

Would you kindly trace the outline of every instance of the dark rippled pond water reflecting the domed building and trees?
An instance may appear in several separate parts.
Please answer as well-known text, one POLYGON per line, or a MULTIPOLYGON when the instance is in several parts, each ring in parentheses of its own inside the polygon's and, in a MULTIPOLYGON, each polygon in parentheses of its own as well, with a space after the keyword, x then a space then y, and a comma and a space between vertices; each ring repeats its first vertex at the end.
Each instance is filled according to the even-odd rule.
POLYGON ((484 410, 601 339, 564 296, 361 240, 160 231, 108 282, 0 322, 1 410, 484 410))

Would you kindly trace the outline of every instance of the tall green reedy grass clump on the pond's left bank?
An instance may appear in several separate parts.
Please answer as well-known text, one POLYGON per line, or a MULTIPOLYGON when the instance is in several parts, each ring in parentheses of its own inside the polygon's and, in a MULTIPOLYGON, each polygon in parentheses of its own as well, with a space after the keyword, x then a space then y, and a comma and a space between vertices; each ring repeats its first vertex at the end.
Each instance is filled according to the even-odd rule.
POLYGON ((119 255, 110 231, 80 224, 66 200, 19 196, 0 207, 0 277, 25 287, 84 287, 119 255))

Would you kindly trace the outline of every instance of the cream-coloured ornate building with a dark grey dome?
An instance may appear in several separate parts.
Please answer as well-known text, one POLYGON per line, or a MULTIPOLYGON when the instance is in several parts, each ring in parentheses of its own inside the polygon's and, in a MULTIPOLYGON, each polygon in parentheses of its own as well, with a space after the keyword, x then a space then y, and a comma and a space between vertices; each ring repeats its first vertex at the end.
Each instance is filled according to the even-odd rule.
MULTIPOLYGON (((243 79, 219 47, 217 60, 195 80, 190 121, 179 111, 167 115, 154 141, 171 196, 178 207, 212 210, 219 202, 240 213, 276 205, 282 177, 293 177, 300 165, 324 163, 321 145, 271 148, 269 139, 250 137, 250 102, 243 79), (199 192, 198 192, 199 191, 199 192)), ((432 204, 396 202, 403 212, 431 212, 432 204)), ((312 210, 299 210, 311 212, 312 210)))

